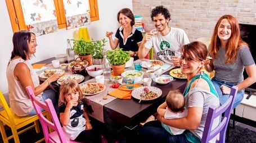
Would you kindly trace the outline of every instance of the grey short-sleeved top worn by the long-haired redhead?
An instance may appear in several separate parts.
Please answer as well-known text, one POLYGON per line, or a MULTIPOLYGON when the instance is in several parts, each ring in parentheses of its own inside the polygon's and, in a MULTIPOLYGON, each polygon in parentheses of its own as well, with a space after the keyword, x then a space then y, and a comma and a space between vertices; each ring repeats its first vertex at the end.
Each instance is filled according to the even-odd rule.
POLYGON ((219 48, 217 58, 213 61, 215 77, 226 82, 243 81, 244 76, 242 72, 244 72, 244 67, 254 64, 248 46, 242 45, 239 52, 237 52, 236 62, 232 64, 225 63, 225 53, 225 48, 219 48))

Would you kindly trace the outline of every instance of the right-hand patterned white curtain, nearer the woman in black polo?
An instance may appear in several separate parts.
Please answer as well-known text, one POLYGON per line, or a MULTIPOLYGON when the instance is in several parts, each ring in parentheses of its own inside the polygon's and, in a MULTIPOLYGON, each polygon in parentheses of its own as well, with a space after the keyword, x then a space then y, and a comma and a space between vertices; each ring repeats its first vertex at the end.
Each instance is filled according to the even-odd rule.
POLYGON ((73 29, 90 23, 88 0, 63 0, 66 29, 73 29))

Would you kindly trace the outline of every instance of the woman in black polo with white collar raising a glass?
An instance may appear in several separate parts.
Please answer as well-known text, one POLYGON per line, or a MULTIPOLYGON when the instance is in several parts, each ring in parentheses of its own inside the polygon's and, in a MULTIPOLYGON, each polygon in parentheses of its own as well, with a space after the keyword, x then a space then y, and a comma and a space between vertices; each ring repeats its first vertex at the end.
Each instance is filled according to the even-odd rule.
POLYGON ((130 56, 138 56, 138 47, 142 41, 142 33, 134 27, 134 16, 129 8, 123 8, 118 12, 117 20, 120 24, 119 29, 115 33, 114 40, 112 31, 107 31, 106 36, 109 38, 111 49, 116 47, 123 48, 125 51, 130 51, 130 56))

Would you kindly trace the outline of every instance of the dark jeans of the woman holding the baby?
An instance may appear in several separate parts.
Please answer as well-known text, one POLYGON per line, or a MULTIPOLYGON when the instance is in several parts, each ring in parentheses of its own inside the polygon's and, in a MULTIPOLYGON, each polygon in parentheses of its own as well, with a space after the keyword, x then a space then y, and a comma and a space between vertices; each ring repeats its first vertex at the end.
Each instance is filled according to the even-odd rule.
POLYGON ((170 135, 159 121, 151 121, 144 124, 141 130, 138 131, 138 139, 140 142, 184 142, 188 143, 185 133, 181 135, 170 135))

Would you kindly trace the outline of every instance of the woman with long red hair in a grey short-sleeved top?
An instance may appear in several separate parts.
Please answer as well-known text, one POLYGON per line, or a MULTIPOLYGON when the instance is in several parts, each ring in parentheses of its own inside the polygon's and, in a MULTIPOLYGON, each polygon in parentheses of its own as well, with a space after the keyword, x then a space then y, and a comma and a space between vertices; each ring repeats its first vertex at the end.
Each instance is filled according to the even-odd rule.
POLYGON ((215 76, 212 82, 218 92, 221 105, 230 96, 231 87, 238 87, 233 108, 236 108, 244 98, 244 89, 256 82, 256 66, 251 56, 248 44, 240 38, 238 21, 231 15, 223 15, 214 27, 210 42, 210 56, 205 68, 215 76), (248 77, 244 80, 244 69, 248 77))

